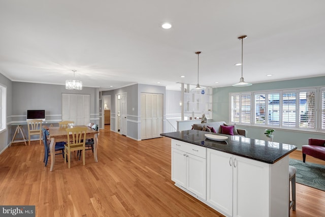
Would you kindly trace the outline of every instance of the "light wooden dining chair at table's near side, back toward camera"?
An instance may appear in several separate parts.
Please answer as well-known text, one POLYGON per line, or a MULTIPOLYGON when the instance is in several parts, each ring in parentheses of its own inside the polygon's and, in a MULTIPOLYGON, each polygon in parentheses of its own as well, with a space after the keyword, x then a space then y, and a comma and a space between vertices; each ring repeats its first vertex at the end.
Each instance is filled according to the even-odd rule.
POLYGON ((64 145, 64 164, 67 162, 68 157, 68 168, 70 168, 71 151, 80 150, 82 151, 82 162, 85 161, 85 143, 86 143, 86 131, 87 127, 76 127, 67 128, 68 142, 64 145))

